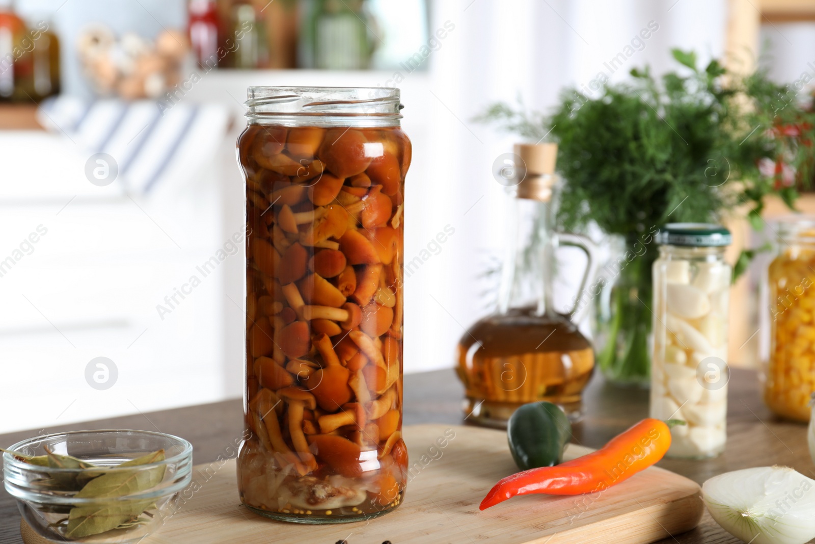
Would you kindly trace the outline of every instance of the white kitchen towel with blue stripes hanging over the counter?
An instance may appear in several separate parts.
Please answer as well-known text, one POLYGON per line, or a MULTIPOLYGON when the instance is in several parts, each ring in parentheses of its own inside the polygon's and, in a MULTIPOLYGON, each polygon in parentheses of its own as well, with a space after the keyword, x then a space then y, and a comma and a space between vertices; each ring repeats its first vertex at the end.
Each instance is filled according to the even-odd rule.
POLYGON ((148 193, 159 184, 195 175, 222 144, 231 119, 218 104, 152 100, 83 100, 58 96, 38 110, 38 121, 88 153, 116 161, 127 192, 148 193))

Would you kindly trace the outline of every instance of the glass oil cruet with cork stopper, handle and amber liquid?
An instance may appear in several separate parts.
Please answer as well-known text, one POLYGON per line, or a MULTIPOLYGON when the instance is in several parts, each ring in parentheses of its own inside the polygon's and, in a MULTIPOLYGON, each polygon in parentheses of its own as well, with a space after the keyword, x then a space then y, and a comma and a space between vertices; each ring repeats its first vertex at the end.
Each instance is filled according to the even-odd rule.
POLYGON ((548 400, 573 421, 581 415, 581 392, 594 369, 594 351, 568 313, 553 307, 555 252, 573 245, 587 255, 575 301, 592 275, 593 244, 586 237, 556 232, 562 181, 555 174, 557 144, 517 144, 513 217, 501 272, 496 312, 470 326, 458 347, 459 378, 465 385, 468 420, 506 427, 518 406, 548 400))

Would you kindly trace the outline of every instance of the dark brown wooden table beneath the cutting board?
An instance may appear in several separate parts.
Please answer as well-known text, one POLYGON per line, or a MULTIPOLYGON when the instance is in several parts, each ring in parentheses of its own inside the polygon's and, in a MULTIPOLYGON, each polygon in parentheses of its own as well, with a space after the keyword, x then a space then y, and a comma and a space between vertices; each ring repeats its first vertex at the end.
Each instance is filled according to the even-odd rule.
MULTIPOLYGON (((404 422, 460 423, 463 389, 452 370, 438 370, 405 377, 404 422)), ((595 375, 584 394, 586 416, 575 426, 574 441, 598 448, 612 436, 645 418, 648 414, 648 392, 618 389, 595 375)), ((712 475, 747 467, 786 465, 802 474, 815 476, 807 446, 804 425, 782 422, 764 408, 760 399, 756 373, 733 370, 729 388, 727 450, 709 461, 664 460, 660 467, 678 472, 702 484, 712 475)), ((144 415, 77 423, 47 431, 71 431, 94 428, 128 428, 162 431, 183 436, 195 447, 196 463, 213 461, 240 436, 240 400, 227 400, 211 405, 164 410, 144 415)), ((19 440, 36 435, 37 431, 21 431, 0 435, 0 444, 7 447, 19 440)), ((381 520, 387 523, 387 519, 381 520)), ((14 500, 0 491, 0 542, 19 544, 20 516, 14 500)), ((705 513, 697 529, 667 538, 661 542, 689 544, 733 543, 738 539, 725 533, 705 513)), ((399 544, 394 541, 394 544, 399 544)))

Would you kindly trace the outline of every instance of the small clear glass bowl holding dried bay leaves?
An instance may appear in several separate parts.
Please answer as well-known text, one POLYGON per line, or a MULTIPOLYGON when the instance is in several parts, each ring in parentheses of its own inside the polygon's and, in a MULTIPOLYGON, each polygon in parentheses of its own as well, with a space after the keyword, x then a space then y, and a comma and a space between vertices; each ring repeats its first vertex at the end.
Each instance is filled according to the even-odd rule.
POLYGON ((174 513, 174 496, 192 479, 192 444, 160 432, 37 436, 11 446, 2 460, 20 514, 51 542, 139 542, 174 513), (150 455, 162 449, 163 458, 150 455))

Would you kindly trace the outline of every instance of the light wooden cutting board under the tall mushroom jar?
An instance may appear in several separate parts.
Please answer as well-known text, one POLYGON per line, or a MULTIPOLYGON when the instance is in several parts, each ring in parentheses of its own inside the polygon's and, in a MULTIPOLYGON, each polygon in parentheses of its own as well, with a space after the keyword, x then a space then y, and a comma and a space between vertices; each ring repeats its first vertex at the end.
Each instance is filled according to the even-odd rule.
MULTIPOLYGON (((698 484, 657 467, 599 496, 531 495, 478 511, 487 490, 518 470, 504 431, 413 425, 403 432, 411 479, 402 505, 381 518, 305 525, 255 515, 240 504, 230 460, 196 466, 200 489, 142 544, 645 544, 693 529, 702 517, 698 484), (439 438, 448 439, 446 447, 439 438)), ((566 457, 584 453, 570 444, 566 457)))

